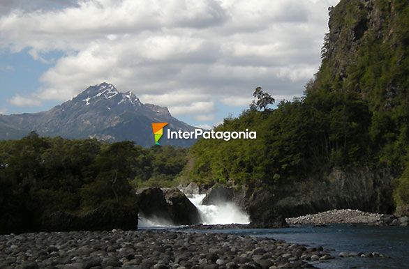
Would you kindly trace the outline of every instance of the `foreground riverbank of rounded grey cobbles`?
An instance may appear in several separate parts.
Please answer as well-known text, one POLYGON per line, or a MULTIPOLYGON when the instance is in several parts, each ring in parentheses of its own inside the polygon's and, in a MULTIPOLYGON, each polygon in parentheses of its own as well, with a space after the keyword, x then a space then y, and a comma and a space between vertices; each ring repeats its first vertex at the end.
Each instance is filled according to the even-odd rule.
POLYGON ((0 268, 308 268, 322 247, 218 233, 73 231, 0 236, 0 268))

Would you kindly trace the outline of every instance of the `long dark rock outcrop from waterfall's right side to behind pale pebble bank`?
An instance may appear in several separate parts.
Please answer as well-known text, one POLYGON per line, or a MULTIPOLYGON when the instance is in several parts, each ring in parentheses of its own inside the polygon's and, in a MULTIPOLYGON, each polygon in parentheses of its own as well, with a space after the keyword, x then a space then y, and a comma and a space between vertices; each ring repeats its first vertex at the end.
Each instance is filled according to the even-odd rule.
POLYGON ((215 185, 203 204, 234 202, 248 213, 251 226, 285 226, 285 218, 325 212, 332 209, 357 209, 371 213, 393 213, 394 175, 387 169, 333 169, 329 175, 299 180, 276 190, 268 187, 227 187, 215 185))

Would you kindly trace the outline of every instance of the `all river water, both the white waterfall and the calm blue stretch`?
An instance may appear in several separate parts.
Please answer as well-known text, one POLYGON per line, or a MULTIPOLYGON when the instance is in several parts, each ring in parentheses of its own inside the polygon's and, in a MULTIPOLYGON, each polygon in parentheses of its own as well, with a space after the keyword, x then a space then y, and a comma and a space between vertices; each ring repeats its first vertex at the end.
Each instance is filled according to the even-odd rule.
MULTIPOLYGON (((204 224, 248 224, 246 213, 234 203, 221 203, 205 206, 202 200, 205 194, 189 196, 198 208, 204 224)), ((169 222, 140 220, 139 228, 177 229, 169 222)), ((291 226, 283 229, 222 229, 222 230, 183 230, 195 232, 231 233, 246 236, 260 236, 283 239, 289 243, 308 246, 322 246, 330 249, 336 259, 317 262, 318 268, 409 268, 409 227, 401 226, 366 226, 334 224, 325 227, 291 226), (374 258, 339 258, 340 252, 379 252, 385 257, 374 258)))

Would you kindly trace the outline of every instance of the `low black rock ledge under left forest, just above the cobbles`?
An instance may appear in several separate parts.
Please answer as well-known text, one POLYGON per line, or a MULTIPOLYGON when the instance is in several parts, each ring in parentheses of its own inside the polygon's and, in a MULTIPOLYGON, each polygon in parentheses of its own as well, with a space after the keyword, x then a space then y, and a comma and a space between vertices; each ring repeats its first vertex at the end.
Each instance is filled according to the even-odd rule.
POLYGON ((100 206, 77 215, 64 211, 45 214, 40 231, 124 231, 137 230, 137 206, 100 206))

